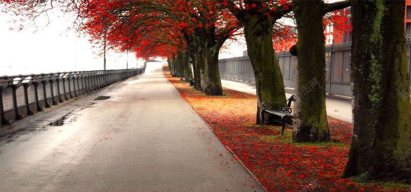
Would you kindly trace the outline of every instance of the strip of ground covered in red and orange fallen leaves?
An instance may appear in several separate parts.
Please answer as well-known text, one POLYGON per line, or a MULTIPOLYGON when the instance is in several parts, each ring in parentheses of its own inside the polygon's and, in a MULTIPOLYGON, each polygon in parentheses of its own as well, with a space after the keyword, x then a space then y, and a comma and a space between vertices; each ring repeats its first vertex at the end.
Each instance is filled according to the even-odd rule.
POLYGON ((255 124, 256 97, 224 89, 206 96, 180 78, 165 76, 268 191, 407 191, 400 184, 356 183, 341 179, 348 159, 351 124, 328 118, 332 143, 293 143, 291 130, 255 124))

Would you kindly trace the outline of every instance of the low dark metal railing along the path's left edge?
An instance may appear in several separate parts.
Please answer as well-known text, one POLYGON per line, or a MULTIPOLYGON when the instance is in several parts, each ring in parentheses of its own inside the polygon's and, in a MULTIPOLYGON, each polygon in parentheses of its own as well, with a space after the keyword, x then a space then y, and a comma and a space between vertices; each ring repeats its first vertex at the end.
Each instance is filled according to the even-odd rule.
POLYGON ((141 74, 144 68, 0 77, 1 124, 141 74))

